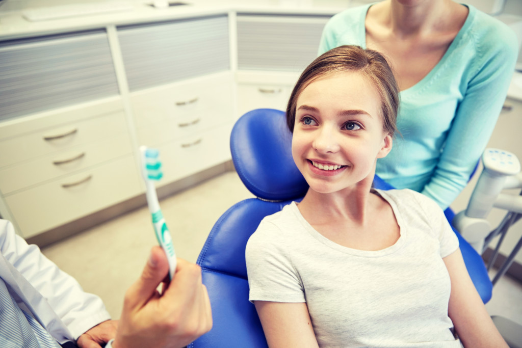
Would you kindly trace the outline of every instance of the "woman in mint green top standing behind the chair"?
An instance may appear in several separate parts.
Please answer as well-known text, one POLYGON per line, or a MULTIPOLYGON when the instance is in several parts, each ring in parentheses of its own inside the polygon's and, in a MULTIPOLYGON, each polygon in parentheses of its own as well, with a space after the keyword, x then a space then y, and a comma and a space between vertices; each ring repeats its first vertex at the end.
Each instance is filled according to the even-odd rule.
POLYGON ((400 89, 402 138, 376 174, 446 209, 500 114, 518 53, 514 32, 451 0, 385 0, 330 19, 319 54, 344 44, 382 52, 400 89))

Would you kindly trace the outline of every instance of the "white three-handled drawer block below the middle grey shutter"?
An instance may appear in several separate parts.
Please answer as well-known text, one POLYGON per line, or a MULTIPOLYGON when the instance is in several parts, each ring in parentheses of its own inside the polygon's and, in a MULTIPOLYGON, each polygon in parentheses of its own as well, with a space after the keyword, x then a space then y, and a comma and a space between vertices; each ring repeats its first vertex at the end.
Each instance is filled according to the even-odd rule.
POLYGON ((132 93, 138 142, 160 149, 159 184, 230 160, 232 87, 227 71, 132 93))

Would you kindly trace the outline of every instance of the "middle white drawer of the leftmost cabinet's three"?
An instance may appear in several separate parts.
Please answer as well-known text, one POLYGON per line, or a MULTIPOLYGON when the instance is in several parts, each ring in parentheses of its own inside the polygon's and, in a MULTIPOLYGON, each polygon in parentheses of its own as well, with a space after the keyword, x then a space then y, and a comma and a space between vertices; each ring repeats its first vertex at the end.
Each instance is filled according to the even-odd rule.
POLYGON ((57 152, 0 170, 0 191, 8 195, 19 189, 73 174, 88 167, 132 153, 127 134, 57 152))

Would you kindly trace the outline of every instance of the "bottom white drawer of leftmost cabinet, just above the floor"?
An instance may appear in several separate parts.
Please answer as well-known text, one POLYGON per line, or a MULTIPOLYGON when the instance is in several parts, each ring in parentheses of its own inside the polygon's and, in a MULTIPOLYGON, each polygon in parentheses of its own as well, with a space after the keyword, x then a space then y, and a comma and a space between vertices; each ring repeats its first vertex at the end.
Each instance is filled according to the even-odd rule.
POLYGON ((134 197, 140 192, 134 158, 128 155, 11 195, 6 197, 6 201, 22 236, 28 238, 134 197))

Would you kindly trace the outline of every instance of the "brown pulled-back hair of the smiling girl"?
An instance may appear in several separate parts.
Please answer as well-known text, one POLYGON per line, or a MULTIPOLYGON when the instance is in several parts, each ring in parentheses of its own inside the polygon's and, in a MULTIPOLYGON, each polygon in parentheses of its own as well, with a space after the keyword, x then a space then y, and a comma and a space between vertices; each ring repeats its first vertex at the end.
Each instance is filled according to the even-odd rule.
POLYGON ((357 71, 374 84, 381 95, 384 129, 393 136, 397 129, 399 88, 392 68, 381 53, 354 45, 339 46, 323 53, 304 69, 288 101, 287 125, 290 131, 293 132, 297 99, 303 89, 318 78, 340 71, 357 71))

